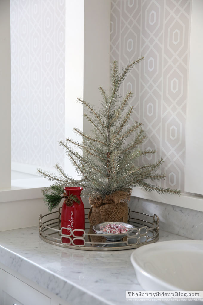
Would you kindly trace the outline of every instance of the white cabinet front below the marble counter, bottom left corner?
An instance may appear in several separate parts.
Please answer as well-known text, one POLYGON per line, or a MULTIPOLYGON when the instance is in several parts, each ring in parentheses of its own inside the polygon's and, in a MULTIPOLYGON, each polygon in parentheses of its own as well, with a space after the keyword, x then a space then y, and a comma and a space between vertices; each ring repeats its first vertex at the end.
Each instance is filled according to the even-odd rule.
POLYGON ((22 280, 11 269, 4 269, 0 268, 0 305, 71 305, 26 278, 22 280))

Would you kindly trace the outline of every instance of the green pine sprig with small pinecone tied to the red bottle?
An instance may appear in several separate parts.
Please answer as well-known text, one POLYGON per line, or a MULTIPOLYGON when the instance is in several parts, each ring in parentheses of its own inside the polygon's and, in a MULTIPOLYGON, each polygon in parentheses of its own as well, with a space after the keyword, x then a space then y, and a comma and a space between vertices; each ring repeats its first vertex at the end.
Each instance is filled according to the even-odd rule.
MULTIPOLYGON (((59 203, 63 198, 67 198, 68 200, 72 200, 80 204, 80 200, 75 195, 69 194, 69 196, 61 196, 64 193, 61 185, 51 185, 49 188, 43 189, 42 192, 44 195, 44 202, 46 203, 46 206, 50 212, 59 206, 59 203)), ((67 203, 66 205, 68 206, 67 203)))

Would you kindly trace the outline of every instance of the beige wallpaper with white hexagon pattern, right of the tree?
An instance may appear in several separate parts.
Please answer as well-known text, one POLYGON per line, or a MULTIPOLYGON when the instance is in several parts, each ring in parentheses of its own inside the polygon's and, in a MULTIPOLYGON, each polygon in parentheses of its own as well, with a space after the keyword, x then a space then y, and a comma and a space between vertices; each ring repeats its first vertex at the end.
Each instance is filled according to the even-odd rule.
POLYGON ((118 60, 121 69, 145 56, 125 80, 122 95, 134 92, 134 119, 149 136, 144 147, 157 150, 148 160, 165 159, 161 185, 182 191, 190 22, 191 0, 111 0, 111 61, 118 60))

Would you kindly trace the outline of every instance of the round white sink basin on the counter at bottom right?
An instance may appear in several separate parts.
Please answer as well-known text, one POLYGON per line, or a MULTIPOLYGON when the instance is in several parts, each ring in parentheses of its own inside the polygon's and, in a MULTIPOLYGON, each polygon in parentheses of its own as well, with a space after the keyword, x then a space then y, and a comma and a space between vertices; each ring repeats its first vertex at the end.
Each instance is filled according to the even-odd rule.
POLYGON ((203 290, 203 241, 157 242, 131 255, 145 290, 203 290))

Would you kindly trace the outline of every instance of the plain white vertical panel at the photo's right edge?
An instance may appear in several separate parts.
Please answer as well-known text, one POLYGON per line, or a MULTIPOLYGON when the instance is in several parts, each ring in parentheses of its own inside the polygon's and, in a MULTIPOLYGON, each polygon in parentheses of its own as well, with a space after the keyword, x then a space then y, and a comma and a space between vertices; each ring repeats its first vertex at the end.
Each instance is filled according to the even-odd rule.
POLYGON ((192 2, 185 191, 203 194, 203 1, 192 2))

